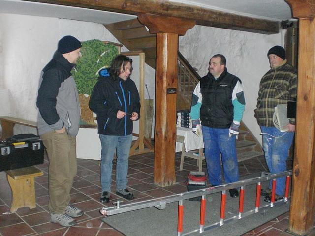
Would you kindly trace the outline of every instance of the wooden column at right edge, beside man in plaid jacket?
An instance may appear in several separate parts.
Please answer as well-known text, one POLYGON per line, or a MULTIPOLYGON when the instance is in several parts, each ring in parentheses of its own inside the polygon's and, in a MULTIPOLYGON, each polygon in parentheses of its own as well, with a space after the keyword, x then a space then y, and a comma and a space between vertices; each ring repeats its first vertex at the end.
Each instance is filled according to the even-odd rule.
POLYGON ((298 95, 289 231, 313 230, 315 206, 315 3, 287 0, 299 18, 298 95))

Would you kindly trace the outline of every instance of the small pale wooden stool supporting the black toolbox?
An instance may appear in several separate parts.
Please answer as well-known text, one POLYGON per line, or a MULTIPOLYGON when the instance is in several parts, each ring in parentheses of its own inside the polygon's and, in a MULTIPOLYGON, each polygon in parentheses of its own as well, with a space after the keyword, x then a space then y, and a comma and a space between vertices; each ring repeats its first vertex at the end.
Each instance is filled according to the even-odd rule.
POLYGON ((34 166, 6 171, 12 189, 12 203, 10 212, 15 212, 20 207, 36 207, 34 177, 44 173, 34 166))

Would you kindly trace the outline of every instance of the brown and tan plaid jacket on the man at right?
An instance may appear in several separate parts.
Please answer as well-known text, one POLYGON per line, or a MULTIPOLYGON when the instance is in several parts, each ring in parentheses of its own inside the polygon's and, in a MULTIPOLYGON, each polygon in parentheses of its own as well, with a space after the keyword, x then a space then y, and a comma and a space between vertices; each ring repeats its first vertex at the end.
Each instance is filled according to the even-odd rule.
MULTIPOLYGON (((261 79, 255 115, 259 125, 275 127, 273 114, 278 104, 296 100, 297 74, 293 66, 286 63, 269 70, 261 79)), ((295 119, 290 119, 295 124, 295 119)))

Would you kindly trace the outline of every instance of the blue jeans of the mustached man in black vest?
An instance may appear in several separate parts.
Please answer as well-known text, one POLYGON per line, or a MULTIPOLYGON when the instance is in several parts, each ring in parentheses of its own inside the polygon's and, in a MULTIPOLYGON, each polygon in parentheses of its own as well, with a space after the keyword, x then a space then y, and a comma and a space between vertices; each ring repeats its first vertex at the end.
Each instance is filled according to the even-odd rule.
POLYGON ((209 182, 212 185, 222 184, 221 158, 225 183, 239 180, 238 163, 236 157, 236 138, 229 137, 229 129, 216 129, 202 126, 205 159, 209 182))

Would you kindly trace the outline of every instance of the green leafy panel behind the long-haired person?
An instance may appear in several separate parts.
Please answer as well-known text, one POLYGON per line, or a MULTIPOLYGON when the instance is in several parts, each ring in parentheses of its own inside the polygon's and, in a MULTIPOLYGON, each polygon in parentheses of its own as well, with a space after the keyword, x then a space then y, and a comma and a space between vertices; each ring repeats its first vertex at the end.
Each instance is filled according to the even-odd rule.
POLYGON ((110 66, 112 60, 118 55, 115 45, 104 44, 93 39, 82 42, 82 57, 77 61, 71 73, 80 94, 91 95, 98 78, 98 71, 110 66))

